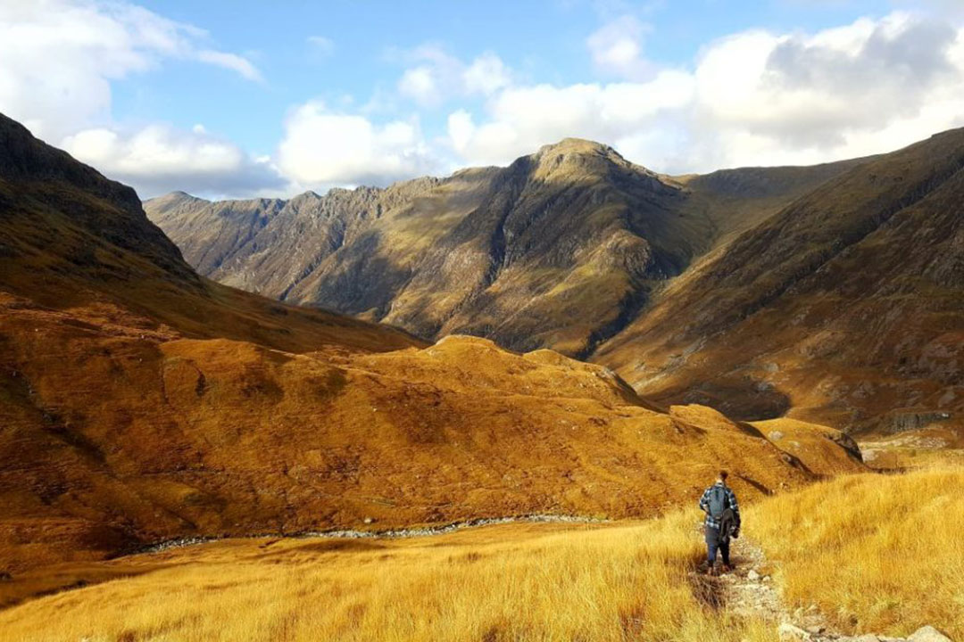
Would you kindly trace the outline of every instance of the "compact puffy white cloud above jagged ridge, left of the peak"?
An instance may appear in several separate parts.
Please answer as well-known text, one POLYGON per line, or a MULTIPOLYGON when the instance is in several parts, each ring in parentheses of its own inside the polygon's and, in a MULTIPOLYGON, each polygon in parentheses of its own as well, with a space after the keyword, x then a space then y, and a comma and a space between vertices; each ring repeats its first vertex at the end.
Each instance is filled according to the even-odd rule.
POLYGON ((284 123, 278 165, 303 188, 386 185, 439 167, 416 120, 376 124, 335 113, 320 101, 297 107, 284 123))

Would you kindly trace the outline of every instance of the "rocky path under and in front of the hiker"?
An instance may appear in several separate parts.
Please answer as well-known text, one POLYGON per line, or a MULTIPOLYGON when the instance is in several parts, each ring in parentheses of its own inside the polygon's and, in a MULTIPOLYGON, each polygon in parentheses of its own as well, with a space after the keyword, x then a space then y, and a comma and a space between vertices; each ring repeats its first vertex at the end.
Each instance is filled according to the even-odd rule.
MULTIPOLYGON (((701 532, 702 537, 702 532, 701 532)), ((786 642, 952 642, 951 638, 933 627, 924 627, 910 637, 888 637, 865 633, 844 635, 827 623, 816 605, 797 608, 790 612, 783 603, 780 589, 768 575, 763 551, 745 537, 733 542, 731 560, 733 573, 719 577, 707 574, 704 562, 692 575, 694 593, 716 609, 726 609, 739 617, 757 618, 773 623, 780 639, 786 642)))

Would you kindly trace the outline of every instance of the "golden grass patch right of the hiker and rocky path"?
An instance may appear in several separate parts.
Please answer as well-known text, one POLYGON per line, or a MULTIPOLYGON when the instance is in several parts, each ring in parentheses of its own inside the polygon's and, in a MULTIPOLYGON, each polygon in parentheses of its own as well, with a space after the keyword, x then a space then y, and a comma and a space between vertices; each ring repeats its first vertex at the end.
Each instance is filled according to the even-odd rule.
POLYGON ((964 469, 850 475, 763 501, 747 533, 793 605, 844 630, 964 638, 964 469))

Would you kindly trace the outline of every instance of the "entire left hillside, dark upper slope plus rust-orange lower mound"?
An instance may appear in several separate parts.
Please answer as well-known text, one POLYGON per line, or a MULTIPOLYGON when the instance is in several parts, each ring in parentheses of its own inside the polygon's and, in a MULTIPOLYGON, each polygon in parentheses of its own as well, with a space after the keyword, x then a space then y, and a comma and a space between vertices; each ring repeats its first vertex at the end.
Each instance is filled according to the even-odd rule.
POLYGON ((721 463, 747 498, 862 468, 831 429, 784 450, 549 350, 425 347, 230 290, 129 189, 9 119, 0 142, 5 601, 69 575, 39 568, 176 537, 652 515, 721 463))

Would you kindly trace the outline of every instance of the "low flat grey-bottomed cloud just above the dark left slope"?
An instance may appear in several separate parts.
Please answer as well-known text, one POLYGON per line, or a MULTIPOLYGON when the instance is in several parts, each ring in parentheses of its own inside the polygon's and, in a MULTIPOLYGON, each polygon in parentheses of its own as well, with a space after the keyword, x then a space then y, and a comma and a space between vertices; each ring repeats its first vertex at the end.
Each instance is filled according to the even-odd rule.
POLYGON ((63 141, 80 161, 134 187, 142 198, 173 189, 199 194, 279 191, 285 186, 277 168, 254 160, 203 125, 184 132, 151 124, 130 132, 92 128, 63 141))

